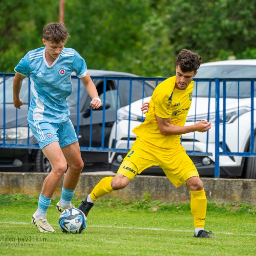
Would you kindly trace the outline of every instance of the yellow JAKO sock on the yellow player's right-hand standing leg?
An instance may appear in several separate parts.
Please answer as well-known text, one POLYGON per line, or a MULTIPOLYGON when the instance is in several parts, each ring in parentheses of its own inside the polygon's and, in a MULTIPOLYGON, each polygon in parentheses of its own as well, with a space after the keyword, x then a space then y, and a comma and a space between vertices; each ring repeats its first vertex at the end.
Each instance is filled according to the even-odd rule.
POLYGON ((204 189, 200 191, 190 191, 190 209, 194 217, 195 228, 204 228, 207 199, 204 189))

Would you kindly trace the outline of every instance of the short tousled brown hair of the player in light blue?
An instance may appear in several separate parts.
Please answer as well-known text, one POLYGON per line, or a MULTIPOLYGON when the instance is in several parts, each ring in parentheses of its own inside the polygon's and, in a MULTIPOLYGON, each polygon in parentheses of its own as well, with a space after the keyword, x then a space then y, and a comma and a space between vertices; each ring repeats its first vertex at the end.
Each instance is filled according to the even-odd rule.
POLYGON ((44 39, 56 44, 60 42, 66 43, 70 37, 67 29, 65 28, 64 22, 52 22, 44 26, 43 29, 44 39))

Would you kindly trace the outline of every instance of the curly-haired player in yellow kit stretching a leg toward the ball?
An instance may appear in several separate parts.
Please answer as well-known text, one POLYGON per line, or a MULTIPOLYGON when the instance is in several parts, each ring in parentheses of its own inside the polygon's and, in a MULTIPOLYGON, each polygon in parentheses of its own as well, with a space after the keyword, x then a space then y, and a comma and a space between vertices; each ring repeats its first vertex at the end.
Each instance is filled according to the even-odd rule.
POLYGON ((175 187, 185 184, 189 188, 194 237, 217 238, 204 230, 207 199, 203 182, 180 144, 182 134, 206 132, 212 126, 211 122, 207 121, 184 126, 192 101, 192 79, 201 63, 202 58, 197 53, 187 49, 179 53, 176 58, 176 75, 157 85, 149 106, 144 104, 141 107, 141 110, 147 112, 145 122, 133 129, 132 132, 137 135, 136 141, 116 176, 100 180, 79 206, 86 216, 99 197, 125 188, 138 173, 156 165, 163 169, 175 187))

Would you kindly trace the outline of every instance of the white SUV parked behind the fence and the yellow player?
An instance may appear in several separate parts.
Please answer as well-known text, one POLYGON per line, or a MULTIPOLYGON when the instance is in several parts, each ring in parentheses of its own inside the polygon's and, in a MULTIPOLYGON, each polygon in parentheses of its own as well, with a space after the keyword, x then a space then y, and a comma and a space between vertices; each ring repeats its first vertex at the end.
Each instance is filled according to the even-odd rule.
MULTIPOLYGON (((215 82, 204 80, 196 83, 197 78, 256 78, 256 60, 226 60, 204 63, 198 69, 195 76, 193 100, 188 112, 185 125, 191 125, 199 120, 211 120, 212 128, 209 132, 192 132, 182 135, 182 146, 188 152, 190 158, 196 165, 201 176, 214 176, 215 162, 215 82), (210 90, 211 89, 211 90, 210 90), (209 101, 209 95, 210 101, 209 101), (207 143, 208 142, 208 143, 207 143), (200 154, 201 152, 201 154, 200 154), (202 153, 208 152, 205 156, 202 153)), ((212 80, 213 81, 213 80, 212 80)), ((251 82, 229 81, 226 82, 226 151, 249 152, 251 134, 251 82), (239 96, 238 96, 239 95, 239 96)), ((255 82, 254 82, 255 85, 255 82)), ((254 106, 256 106, 256 86, 254 86, 254 106)), ((117 122, 113 125, 109 148, 128 149, 131 148, 136 135, 132 129, 145 120, 141 112, 142 102, 149 101, 150 97, 138 100, 118 110, 117 122), (129 125, 130 116, 130 125, 129 125), (128 136, 128 128, 130 129, 128 136), (128 138, 129 137, 129 138, 128 138), (129 141, 129 142, 128 142, 129 141)), ((254 109, 253 129, 256 129, 256 111, 254 109)), ((223 145, 223 82, 220 82, 220 152, 223 145)), ((256 136, 254 136, 254 152, 256 148, 256 136)), ((125 152, 109 152, 108 162, 110 170, 116 172, 125 152)), ((256 179, 256 157, 243 156, 220 156, 220 177, 244 177, 256 179)), ((150 167, 142 174, 159 174, 163 171, 156 166, 150 167)))

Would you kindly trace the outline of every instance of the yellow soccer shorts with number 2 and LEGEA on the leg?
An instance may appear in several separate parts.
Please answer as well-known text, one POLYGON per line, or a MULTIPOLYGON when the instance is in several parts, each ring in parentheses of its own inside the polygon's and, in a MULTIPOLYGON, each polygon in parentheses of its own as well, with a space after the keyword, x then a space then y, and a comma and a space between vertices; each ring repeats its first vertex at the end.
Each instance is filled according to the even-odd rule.
MULTIPOLYGON (((137 167, 138 173, 150 166, 159 166, 177 188, 182 184, 186 185, 188 178, 199 177, 196 166, 181 145, 172 149, 159 148, 137 137, 131 150, 125 156, 125 160, 133 163, 137 167)), ((137 175, 137 170, 134 171, 132 166, 124 168, 121 164, 117 173, 132 180, 137 175)))

